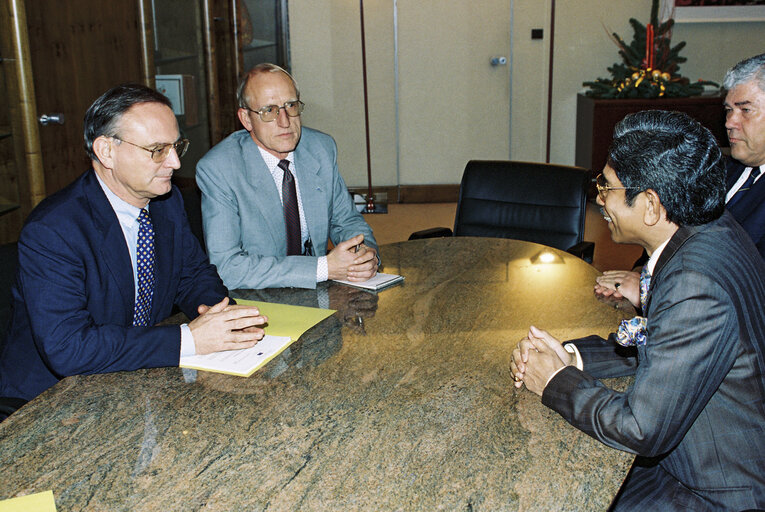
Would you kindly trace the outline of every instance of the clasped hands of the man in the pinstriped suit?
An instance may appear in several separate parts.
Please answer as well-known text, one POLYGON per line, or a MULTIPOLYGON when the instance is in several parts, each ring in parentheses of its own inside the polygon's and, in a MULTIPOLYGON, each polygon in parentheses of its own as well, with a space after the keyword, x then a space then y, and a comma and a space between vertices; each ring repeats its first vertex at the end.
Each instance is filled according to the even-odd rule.
POLYGON ((513 350, 510 361, 515 381, 513 385, 520 388, 525 384, 529 391, 542 396, 550 377, 560 368, 575 362, 576 356, 567 352, 560 341, 532 325, 526 337, 513 350))

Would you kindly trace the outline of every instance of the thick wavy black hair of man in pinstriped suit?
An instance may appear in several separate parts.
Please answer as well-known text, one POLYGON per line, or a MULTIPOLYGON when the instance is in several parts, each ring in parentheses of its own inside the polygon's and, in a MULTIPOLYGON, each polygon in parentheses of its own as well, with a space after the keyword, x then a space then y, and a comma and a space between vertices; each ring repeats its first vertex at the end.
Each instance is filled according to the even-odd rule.
POLYGON ((646 110, 614 128, 608 165, 625 187, 627 205, 652 189, 679 226, 710 222, 725 209, 725 164, 712 133, 687 114, 646 110))

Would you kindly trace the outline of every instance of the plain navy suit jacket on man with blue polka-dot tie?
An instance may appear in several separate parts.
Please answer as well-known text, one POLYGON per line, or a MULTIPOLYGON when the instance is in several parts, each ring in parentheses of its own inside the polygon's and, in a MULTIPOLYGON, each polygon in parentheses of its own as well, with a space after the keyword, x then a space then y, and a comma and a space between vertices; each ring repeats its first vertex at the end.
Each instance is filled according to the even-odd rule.
MULTIPOLYGON (((228 291, 191 233, 177 188, 151 201, 157 267, 152 325, 178 304, 189 318, 228 291)), ((19 238, 0 396, 32 399, 68 375, 177 366, 180 327, 133 327, 125 237, 90 170, 44 200, 19 238)))

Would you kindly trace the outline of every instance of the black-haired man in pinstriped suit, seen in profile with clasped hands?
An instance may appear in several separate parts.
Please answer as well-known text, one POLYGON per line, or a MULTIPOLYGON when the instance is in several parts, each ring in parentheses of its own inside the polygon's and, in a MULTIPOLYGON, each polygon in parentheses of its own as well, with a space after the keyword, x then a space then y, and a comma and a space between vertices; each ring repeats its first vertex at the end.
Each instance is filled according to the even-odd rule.
POLYGON ((765 262, 724 211, 714 137, 677 112, 627 116, 603 176, 611 237, 650 255, 645 317, 565 345, 531 327, 515 385, 638 455, 613 510, 765 508, 765 262), (624 392, 596 380, 623 375, 624 392))

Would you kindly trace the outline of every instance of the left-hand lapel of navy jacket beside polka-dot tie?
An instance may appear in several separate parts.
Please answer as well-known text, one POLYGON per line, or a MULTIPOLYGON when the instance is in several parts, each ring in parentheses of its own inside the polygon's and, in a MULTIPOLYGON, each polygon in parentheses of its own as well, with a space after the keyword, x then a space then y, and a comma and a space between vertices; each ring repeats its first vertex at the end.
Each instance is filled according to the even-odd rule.
POLYGON ((130 262, 125 234, 122 232, 117 214, 114 213, 104 191, 96 179, 95 171, 89 171, 84 178, 83 190, 91 209, 93 225, 103 240, 101 244, 101 260, 109 268, 118 284, 120 296, 125 302, 125 310, 129 311, 130 322, 133 321, 135 307, 135 283, 133 280, 133 264, 130 262))

